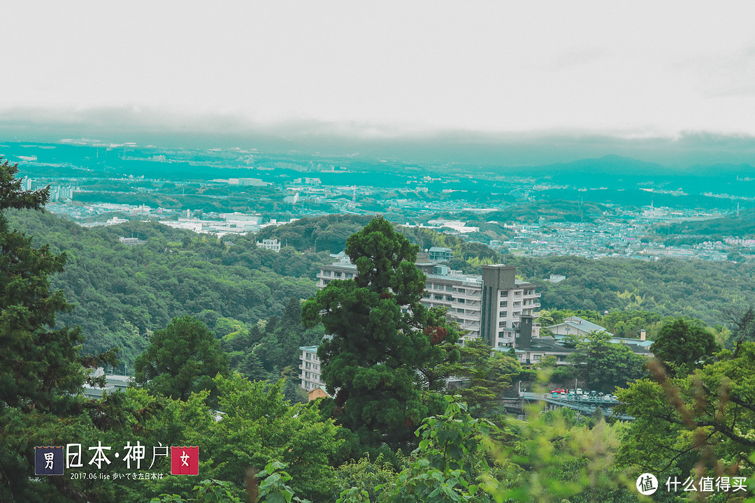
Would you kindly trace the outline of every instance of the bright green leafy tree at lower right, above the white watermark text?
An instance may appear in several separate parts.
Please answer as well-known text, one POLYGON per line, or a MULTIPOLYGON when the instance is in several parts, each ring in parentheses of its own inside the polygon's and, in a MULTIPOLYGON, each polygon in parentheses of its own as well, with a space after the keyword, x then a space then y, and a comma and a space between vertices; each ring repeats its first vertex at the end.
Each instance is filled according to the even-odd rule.
POLYGON ((634 416, 620 462, 659 474, 692 471, 753 474, 755 343, 744 342, 692 373, 673 376, 652 363, 652 379, 618 391, 621 411, 634 416))

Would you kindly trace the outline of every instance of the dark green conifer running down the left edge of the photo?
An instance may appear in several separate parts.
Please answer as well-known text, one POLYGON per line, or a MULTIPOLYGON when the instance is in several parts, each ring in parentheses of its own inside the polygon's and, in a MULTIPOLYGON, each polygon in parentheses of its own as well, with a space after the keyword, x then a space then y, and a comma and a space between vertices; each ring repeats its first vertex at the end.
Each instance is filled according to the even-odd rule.
POLYGON ((88 368, 116 363, 114 351, 82 357, 80 330, 58 327, 69 311, 50 276, 63 270, 64 254, 8 228, 5 210, 43 210, 48 189, 23 191, 17 166, 0 162, 0 501, 53 501, 76 493, 69 480, 34 484, 35 445, 54 445, 79 425, 88 409, 80 396, 88 368), (57 490, 56 490, 57 489, 57 490))

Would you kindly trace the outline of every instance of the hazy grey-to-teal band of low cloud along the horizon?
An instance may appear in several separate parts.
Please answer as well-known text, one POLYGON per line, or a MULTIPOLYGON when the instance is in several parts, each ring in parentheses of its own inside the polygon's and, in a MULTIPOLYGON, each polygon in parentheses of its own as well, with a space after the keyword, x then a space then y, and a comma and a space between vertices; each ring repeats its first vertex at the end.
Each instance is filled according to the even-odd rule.
POLYGON ((624 136, 599 131, 402 130, 375 124, 291 121, 263 125, 233 115, 181 115, 144 109, 15 109, 0 116, 0 140, 57 143, 64 138, 145 146, 258 149, 317 157, 393 159, 482 166, 569 163, 620 155, 664 164, 755 165, 755 136, 683 132, 624 136))

